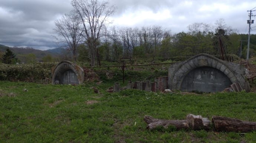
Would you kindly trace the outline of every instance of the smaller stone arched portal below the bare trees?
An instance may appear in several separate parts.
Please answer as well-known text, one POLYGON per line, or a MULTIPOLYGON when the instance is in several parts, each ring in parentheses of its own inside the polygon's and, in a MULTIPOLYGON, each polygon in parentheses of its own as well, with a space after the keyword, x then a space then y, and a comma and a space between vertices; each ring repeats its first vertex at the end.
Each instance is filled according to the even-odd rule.
POLYGON ((69 61, 60 62, 52 75, 52 84, 82 84, 84 80, 83 69, 69 61))

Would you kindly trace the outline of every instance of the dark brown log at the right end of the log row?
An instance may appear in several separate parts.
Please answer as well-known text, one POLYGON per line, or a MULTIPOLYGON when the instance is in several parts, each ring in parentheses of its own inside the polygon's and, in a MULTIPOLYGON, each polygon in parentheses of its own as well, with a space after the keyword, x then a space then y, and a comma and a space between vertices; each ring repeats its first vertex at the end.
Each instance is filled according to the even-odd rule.
POLYGON ((239 119, 212 116, 211 122, 218 131, 250 132, 256 130, 256 122, 241 121, 239 119))

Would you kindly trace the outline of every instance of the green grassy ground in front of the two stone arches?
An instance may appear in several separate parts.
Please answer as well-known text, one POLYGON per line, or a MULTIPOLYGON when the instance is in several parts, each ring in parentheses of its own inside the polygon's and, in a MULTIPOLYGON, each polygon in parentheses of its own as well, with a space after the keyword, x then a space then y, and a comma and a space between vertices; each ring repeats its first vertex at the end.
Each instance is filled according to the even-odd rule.
POLYGON ((256 122, 255 93, 110 94, 109 86, 0 81, 0 142, 256 142, 256 132, 150 131, 143 121, 145 115, 178 120, 195 114, 256 122))

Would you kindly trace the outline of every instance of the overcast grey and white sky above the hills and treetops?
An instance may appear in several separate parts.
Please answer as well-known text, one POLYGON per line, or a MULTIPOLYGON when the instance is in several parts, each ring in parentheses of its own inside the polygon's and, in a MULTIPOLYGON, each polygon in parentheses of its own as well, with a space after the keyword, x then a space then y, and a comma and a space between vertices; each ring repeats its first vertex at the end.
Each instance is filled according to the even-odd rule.
MULTIPOLYGON (((187 32, 187 26, 195 22, 214 25, 220 18, 227 26, 247 34, 247 10, 256 7, 256 0, 109 0, 109 3, 118 8, 111 17, 112 25, 159 25, 173 34, 187 32)), ((53 38, 54 21, 70 10, 71 0, 0 0, 0 44, 41 50, 58 48, 53 38)), ((256 34, 256 21, 252 29, 251 33, 256 34)))

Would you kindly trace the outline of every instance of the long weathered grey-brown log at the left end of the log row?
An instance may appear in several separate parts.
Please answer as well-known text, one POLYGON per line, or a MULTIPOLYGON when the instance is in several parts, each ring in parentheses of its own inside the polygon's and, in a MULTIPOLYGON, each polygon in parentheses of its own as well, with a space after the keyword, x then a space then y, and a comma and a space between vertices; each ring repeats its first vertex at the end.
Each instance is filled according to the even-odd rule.
POLYGON ((187 120, 161 120, 155 119, 151 116, 144 116, 144 121, 148 124, 147 129, 154 129, 158 126, 168 128, 168 126, 175 126, 177 129, 187 129, 187 120))

